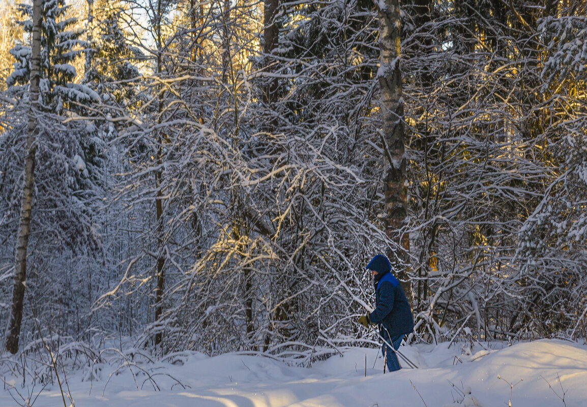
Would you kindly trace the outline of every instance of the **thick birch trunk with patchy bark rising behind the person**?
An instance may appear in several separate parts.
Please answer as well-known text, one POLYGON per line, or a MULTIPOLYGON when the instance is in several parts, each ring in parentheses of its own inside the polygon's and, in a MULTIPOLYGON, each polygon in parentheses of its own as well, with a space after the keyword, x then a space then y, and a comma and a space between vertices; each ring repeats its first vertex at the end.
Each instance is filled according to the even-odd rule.
POLYGON ((410 250, 410 240, 409 235, 402 232, 402 224, 407 216, 407 185, 400 72, 399 0, 385 0, 384 5, 379 2, 378 9, 380 67, 377 77, 381 91, 383 149, 387 162, 384 178, 384 225, 387 237, 396 247, 396 253, 389 253, 388 257, 411 303, 411 283, 406 272, 406 253, 410 250))

